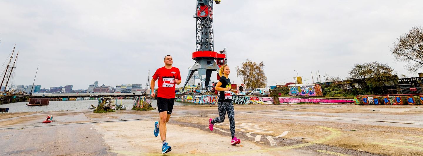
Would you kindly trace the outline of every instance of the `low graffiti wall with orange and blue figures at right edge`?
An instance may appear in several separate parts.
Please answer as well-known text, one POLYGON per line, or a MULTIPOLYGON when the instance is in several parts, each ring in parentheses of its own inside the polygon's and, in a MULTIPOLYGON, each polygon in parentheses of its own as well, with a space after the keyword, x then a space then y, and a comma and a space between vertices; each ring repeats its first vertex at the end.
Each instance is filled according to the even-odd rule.
POLYGON ((360 96, 355 105, 422 105, 423 95, 418 96, 360 96))

